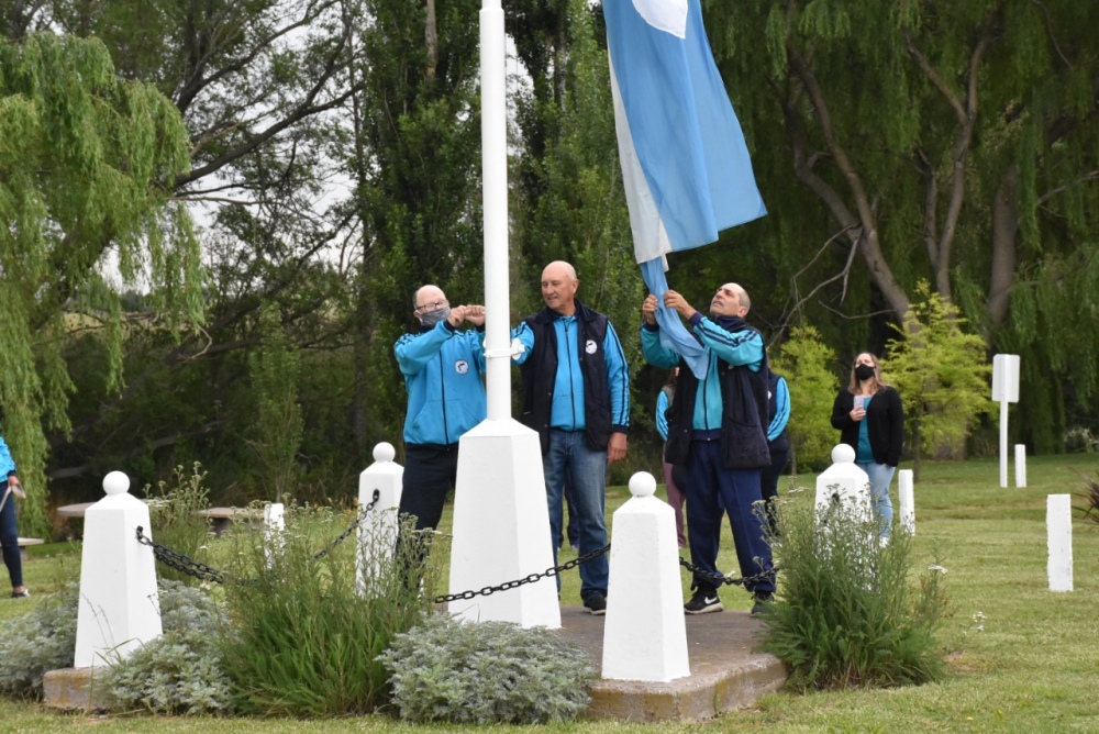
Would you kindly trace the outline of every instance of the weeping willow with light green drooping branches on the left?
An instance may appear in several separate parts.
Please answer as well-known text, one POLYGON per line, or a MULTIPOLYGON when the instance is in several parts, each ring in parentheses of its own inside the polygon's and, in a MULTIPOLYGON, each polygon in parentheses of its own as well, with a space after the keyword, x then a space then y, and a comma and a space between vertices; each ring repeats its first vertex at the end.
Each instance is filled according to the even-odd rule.
POLYGON ((45 432, 69 430, 75 314, 104 340, 115 388, 120 290, 147 290, 165 329, 201 319, 198 242, 169 194, 188 149, 171 102, 119 79, 98 41, 0 38, 0 430, 27 487, 27 531, 47 529, 45 432), (108 269, 122 289, 104 285, 108 269))

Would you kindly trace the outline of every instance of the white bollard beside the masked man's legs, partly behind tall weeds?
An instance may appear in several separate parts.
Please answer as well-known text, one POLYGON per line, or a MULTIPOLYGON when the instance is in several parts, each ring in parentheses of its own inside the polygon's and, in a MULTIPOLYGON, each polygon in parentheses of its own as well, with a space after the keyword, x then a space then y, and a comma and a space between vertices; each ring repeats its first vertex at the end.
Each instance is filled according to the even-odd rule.
POLYGON ((358 526, 355 568, 358 590, 363 594, 369 589, 369 578, 377 577, 393 557, 397 545, 397 531, 400 529, 397 515, 401 505, 404 467, 393 461, 395 456, 397 449, 393 445, 381 442, 374 447, 374 464, 358 475, 359 512, 371 503, 374 505, 358 526))

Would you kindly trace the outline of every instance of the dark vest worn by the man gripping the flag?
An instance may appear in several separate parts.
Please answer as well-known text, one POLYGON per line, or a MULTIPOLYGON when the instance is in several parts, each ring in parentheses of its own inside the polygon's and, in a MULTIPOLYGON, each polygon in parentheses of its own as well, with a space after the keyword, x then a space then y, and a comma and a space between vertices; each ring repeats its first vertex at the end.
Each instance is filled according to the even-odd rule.
MULTIPOLYGON (((755 331, 745 325, 743 329, 755 331)), ((747 366, 734 366, 718 359, 721 380, 721 454, 725 468, 759 469, 770 466, 767 448, 767 425, 770 414, 767 400, 767 354, 758 372, 747 366)), ((680 362, 676 379, 676 396, 668 408, 668 442, 665 458, 669 464, 686 464, 690 455, 691 423, 698 378, 686 363, 680 362)))

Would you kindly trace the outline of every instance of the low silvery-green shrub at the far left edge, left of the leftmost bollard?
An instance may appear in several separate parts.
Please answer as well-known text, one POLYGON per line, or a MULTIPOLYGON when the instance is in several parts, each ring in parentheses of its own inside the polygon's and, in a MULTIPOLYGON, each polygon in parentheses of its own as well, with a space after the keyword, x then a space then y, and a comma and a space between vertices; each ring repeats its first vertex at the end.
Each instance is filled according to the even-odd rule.
POLYGON ((70 585, 0 629, 0 693, 42 697, 42 677, 71 668, 79 590, 70 585))

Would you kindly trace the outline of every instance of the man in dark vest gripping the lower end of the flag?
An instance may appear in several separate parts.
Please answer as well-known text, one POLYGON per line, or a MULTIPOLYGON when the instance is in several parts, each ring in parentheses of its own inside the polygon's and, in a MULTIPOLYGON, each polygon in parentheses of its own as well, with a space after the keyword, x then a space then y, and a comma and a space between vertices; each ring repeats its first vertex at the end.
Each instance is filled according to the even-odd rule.
MULTIPOLYGON (((664 293, 664 305, 687 320, 709 359, 702 379, 690 369, 679 370, 667 411, 665 444, 665 460, 687 468, 691 563, 707 574, 695 574, 695 593, 684 611, 709 614, 724 609, 708 575, 721 575, 717 561, 725 513, 741 576, 756 577, 771 570, 770 546, 764 541, 763 519, 755 509, 762 501, 761 471, 770 466, 767 354, 763 336, 744 321, 751 308, 748 294, 734 282, 718 288, 710 300, 709 319, 674 290, 664 293)), ((642 304, 642 352, 648 364, 670 369, 678 367, 681 358, 660 344, 656 296, 650 293, 642 304)), ((774 575, 744 586, 755 602, 752 613, 763 612, 774 598, 774 575)))

